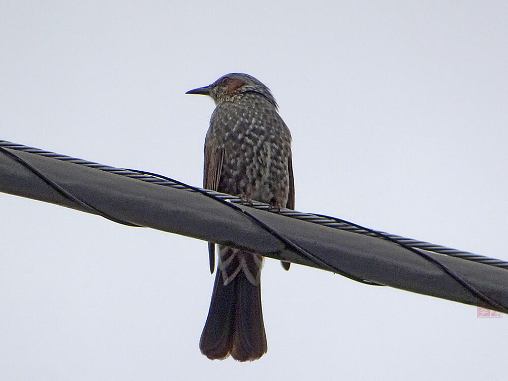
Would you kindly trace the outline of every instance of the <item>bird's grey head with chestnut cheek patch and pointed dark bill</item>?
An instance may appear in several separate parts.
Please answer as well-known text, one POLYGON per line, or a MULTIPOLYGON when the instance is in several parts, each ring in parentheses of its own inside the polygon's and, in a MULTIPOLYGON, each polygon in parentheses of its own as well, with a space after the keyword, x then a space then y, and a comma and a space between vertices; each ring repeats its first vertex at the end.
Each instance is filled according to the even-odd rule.
POLYGON ((202 94, 210 96, 216 105, 222 102, 234 102, 243 94, 252 92, 258 93, 265 97, 273 106, 277 107, 277 103, 273 98, 272 92, 261 81, 243 73, 226 74, 211 85, 198 87, 189 90, 186 94, 202 94))

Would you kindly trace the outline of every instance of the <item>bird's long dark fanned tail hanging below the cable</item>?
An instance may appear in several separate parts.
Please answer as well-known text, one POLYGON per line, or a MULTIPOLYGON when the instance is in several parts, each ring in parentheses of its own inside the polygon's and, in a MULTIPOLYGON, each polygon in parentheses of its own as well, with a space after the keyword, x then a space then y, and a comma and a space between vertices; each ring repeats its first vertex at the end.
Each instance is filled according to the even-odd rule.
POLYGON ((210 310, 199 347, 209 359, 257 360, 267 351, 260 275, 263 257, 220 246, 210 310))

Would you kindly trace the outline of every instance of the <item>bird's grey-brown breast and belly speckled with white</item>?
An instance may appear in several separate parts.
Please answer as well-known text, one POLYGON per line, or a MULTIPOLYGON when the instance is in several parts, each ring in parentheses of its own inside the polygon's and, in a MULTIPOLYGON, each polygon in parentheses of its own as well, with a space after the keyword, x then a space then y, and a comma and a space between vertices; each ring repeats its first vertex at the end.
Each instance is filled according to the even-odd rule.
POLYGON ((256 93, 221 103, 210 134, 225 149, 219 192, 285 206, 291 134, 272 104, 256 93))

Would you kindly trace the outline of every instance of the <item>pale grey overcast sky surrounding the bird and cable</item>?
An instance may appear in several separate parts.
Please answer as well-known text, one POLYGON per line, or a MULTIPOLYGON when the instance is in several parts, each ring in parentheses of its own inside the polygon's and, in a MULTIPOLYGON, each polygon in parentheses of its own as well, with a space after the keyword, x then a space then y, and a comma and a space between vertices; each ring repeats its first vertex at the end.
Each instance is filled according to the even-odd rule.
MULTIPOLYGON (((229 72, 273 91, 296 208, 508 260, 506 2, 0 3, 0 139, 201 185, 229 72)), ((0 194, 9 380, 498 379, 508 316, 273 260, 268 353, 210 361, 202 241, 0 194)))

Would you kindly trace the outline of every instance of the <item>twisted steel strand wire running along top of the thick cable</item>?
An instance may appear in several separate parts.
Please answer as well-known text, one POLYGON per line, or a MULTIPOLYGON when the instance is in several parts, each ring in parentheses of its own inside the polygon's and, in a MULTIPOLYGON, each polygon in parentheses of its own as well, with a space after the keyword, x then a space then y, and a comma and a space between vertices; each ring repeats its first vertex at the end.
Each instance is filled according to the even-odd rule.
MULTIPOLYGON (((95 169, 99 169, 101 171, 110 172, 110 173, 114 173, 114 174, 121 175, 121 176, 127 176, 130 178, 154 183, 157 185, 170 186, 170 187, 176 188, 176 189, 185 189, 189 192, 196 192, 194 187, 182 184, 180 182, 171 181, 166 178, 163 179, 163 178, 159 178, 159 177, 148 175, 148 174, 143 174, 143 173, 136 172, 136 171, 129 170, 129 169, 106 166, 103 164, 90 162, 88 160, 83 160, 83 159, 76 158, 76 157, 70 157, 70 156, 62 155, 62 154, 51 152, 51 151, 45 151, 45 150, 42 150, 39 148, 27 147, 25 145, 12 143, 12 142, 9 142, 6 140, 0 140, 0 147, 12 149, 12 150, 34 153, 34 154, 37 154, 40 156, 45 156, 45 157, 51 157, 56 160, 79 164, 79 165, 83 165, 85 167, 95 168, 95 169)), ((239 197, 215 192, 213 190, 200 189, 200 192, 207 193, 208 195, 210 195, 214 198, 218 198, 223 201, 228 201, 228 202, 235 203, 235 204, 242 204, 243 203, 243 200, 240 199, 239 197)), ((257 201, 253 201, 251 206, 253 208, 260 209, 260 210, 273 211, 273 209, 270 207, 270 205, 260 203, 257 201)), ((363 234, 363 235, 376 237, 376 238, 385 238, 388 240, 393 240, 393 241, 399 242, 405 246, 412 247, 415 249, 431 251, 431 252, 435 252, 435 253, 442 254, 442 255, 461 258, 461 259, 467 260, 467 261, 479 262, 479 263, 483 263, 483 264, 490 265, 490 266, 508 269, 508 262, 501 261, 501 260, 498 260, 495 258, 480 256, 478 254, 474 254, 469 251, 458 250, 458 249, 454 249, 451 247, 432 244, 430 242, 419 241, 419 240, 412 239, 412 238, 401 237, 401 236, 398 236, 395 234, 390 234, 390 233, 386 233, 386 232, 382 232, 382 231, 368 230, 368 229, 365 229, 365 228, 360 227, 358 225, 349 223, 348 221, 344 221, 339 218, 335 218, 335 217, 331 217, 331 216, 317 215, 317 214, 312 214, 312 213, 303 213, 303 212, 299 212, 297 210, 283 209, 283 208, 277 212, 279 214, 284 215, 284 216, 300 219, 300 220, 307 221, 312 224, 319 224, 319 225, 323 225, 323 226, 333 228, 333 229, 344 230, 344 231, 353 232, 353 233, 357 233, 357 234, 363 234)))

